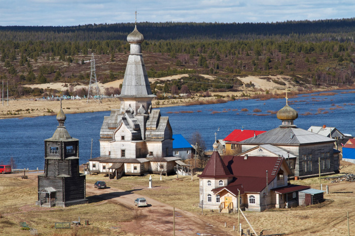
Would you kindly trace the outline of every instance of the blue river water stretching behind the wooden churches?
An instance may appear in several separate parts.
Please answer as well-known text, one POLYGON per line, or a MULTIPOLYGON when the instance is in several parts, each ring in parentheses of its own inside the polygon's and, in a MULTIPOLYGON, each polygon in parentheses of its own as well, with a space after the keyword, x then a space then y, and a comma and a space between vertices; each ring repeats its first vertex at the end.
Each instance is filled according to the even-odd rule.
MULTIPOLYGON (((289 105, 299 113, 294 124, 305 130, 310 126, 326 125, 355 135, 355 122, 351 120, 355 114, 354 92, 333 91, 333 96, 319 96, 329 92, 304 94, 289 99, 289 105)), ((267 131, 281 125, 276 114, 268 111, 277 111, 285 104, 286 99, 235 100, 221 104, 164 107, 160 111, 162 116, 169 116, 173 134, 182 134, 189 141, 198 131, 207 149, 212 149, 216 132, 217 138, 223 139, 242 127, 267 131), (248 111, 241 111, 245 108, 248 111), (255 109, 261 111, 255 112, 255 109)), ((66 114, 67 131, 80 140, 80 164, 90 159, 91 139, 92 158, 99 156, 98 139, 105 115, 110 115, 110 111, 66 114)), ((0 120, 0 164, 9 164, 13 157, 17 168, 43 169, 44 140, 52 137, 57 126, 56 116, 0 120)))

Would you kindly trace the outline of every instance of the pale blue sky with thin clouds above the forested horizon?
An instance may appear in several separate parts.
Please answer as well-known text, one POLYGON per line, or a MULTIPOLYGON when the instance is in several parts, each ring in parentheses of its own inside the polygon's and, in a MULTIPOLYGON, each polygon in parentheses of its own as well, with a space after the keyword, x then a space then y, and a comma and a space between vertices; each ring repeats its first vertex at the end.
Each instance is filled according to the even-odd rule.
POLYGON ((282 22, 355 17, 353 0, 0 0, 0 25, 282 22))

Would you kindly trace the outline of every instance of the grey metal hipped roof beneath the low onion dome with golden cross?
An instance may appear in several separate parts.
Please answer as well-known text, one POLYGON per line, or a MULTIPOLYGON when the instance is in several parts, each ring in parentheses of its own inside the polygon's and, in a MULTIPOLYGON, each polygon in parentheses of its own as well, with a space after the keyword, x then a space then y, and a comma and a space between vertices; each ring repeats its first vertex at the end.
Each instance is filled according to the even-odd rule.
POLYGON ((329 143, 334 139, 309 132, 296 127, 277 127, 262 133, 256 138, 240 141, 241 144, 290 144, 302 145, 309 143, 329 143))

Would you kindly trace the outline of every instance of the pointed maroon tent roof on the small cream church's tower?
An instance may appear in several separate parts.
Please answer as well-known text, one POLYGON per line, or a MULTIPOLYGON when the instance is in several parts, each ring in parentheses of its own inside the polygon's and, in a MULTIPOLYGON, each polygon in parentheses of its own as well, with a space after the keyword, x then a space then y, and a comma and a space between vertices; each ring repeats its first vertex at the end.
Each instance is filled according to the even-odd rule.
POLYGON ((198 175, 200 178, 228 178, 232 177, 228 168, 222 161, 218 151, 214 151, 207 162, 202 174, 198 175))

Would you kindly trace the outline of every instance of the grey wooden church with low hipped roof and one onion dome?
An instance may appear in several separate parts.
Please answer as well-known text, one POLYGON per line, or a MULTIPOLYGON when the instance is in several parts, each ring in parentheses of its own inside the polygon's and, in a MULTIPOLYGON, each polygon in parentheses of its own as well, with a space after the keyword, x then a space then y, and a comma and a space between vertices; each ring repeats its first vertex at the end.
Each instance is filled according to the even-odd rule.
MULTIPOLYGON (((322 174, 339 170, 339 152, 333 148, 334 139, 297 128, 294 121, 298 113, 287 103, 276 115, 282 124, 273 130, 241 141, 242 152, 263 144, 274 145, 292 154, 292 158, 290 156, 287 161, 295 176, 317 175, 318 158, 321 159, 322 174)), ((283 158, 288 159, 288 156, 283 158)))

